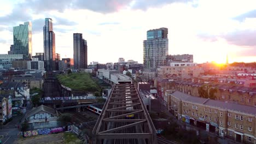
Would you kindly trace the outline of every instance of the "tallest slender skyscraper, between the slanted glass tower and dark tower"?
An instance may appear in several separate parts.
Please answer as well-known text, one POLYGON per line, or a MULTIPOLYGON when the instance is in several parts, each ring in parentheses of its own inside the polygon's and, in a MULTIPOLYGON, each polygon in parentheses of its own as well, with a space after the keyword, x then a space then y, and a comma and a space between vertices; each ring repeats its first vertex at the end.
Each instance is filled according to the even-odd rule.
POLYGON ((45 70, 55 70, 55 33, 53 20, 45 18, 44 31, 44 62, 45 70))

